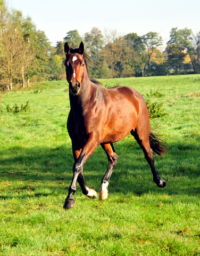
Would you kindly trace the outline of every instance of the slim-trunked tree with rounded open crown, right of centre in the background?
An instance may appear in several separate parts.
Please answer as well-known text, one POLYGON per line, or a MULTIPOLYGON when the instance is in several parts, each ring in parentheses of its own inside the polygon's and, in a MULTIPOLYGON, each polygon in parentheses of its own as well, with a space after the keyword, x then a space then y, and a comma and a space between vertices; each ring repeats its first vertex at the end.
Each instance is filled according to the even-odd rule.
POLYGON ((146 45, 148 54, 148 67, 150 67, 152 54, 157 47, 162 45, 162 37, 159 36, 159 33, 149 32, 144 36, 141 36, 141 41, 146 45))

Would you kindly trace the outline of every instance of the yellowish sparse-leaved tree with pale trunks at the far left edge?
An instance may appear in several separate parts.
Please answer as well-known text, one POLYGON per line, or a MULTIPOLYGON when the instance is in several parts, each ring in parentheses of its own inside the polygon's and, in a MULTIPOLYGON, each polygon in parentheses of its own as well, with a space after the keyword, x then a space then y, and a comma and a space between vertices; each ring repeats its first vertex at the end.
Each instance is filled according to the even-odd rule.
POLYGON ((22 81, 24 87, 24 72, 28 70, 33 54, 30 45, 26 43, 20 29, 21 12, 9 13, 4 1, 1 3, 1 57, 0 74, 2 86, 12 90, 13 82, 22 81))

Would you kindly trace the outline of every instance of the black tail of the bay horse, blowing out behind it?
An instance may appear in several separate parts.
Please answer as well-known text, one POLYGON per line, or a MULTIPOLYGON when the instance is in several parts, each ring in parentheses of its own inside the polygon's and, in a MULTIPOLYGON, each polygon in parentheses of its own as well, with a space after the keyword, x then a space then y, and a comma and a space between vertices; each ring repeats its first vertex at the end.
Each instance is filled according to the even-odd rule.
POLYGON ((152 131, 149 134, 149 144, 154 152, 154 155, 157 154, 159 156, 163 156, 164 153, 166 153, 166 149, 168 148, 166 143, 160 139, 159 135, 153 133, 152 131))

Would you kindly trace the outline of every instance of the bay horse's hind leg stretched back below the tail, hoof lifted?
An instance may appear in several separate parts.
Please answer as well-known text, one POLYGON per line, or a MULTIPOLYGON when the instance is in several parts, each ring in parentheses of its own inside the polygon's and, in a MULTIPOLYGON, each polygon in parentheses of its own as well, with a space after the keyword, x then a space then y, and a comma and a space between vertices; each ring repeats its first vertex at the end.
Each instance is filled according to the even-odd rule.
MULTIPOLYGON (((150 131, 150 129, 149 129, 150 131)), ((159 173, 155 169, 154 165, 154 157, 153 157, 153 150, 150 147, 149 144, 149 133, 144 129, 135 129, 131 131, 131 134, 134 136, 134 138, 137 140, 139 146, 143 150, 145 154, 145 158, 148 162, 148 164, 151 167, 152 174, 153 174, 153 181, 157 184, 157 186, 164 188, 166 185, 166 182, 160 178, 159 173)))

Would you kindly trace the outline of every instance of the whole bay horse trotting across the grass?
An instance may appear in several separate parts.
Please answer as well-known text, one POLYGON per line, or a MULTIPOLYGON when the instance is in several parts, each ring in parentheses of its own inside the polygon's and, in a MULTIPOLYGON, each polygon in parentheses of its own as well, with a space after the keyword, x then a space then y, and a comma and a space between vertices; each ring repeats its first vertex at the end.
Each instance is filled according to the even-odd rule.
POLYGON ((109 160, 101 182, 99 199, 107 198, 109 180, 118 161, 113 143, 129 133, 143 150, 152 170, 153 181, 157 186, 164 188, 166 183, 155 169, 153 153, 163 155, 166 148, 150 131, 148 109, 143 96, 128 86, 105 89, 100 82, 89 77, 87 54, 82 42, 77 49, 72 49, 65 43, 64 52, 71 107, 67 128, 72 141, 74 165, 69 194, 63 208, 71 209, 74 206, 73 194, 76 192, 77 181, 84 195, 89 198, 97 197, 96 191, 85 185, 83 167, 99 145, 105 150, 109 160))

